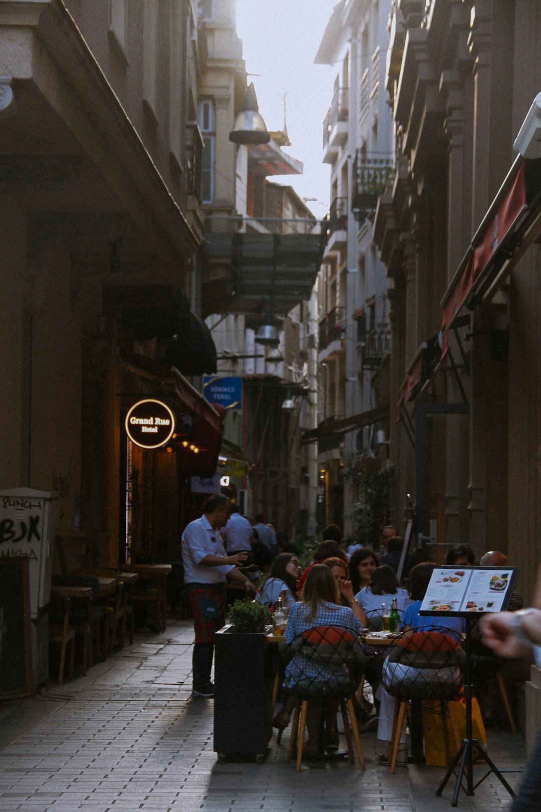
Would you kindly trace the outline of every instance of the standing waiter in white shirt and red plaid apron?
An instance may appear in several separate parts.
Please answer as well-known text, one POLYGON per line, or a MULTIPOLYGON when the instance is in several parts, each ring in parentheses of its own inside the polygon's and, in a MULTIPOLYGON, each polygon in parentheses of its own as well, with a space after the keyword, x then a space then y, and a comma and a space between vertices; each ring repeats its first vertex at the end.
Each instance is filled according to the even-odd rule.
POLYGON ((192 656, 193 696, 213 697, 210 681, 214 633, 225 624, 225 580, 239 581, 248 594, 255 594, 251 581, 237 569, 247 559, 244 552, 227 555, 220 528, 230 516, 230 500, 216 494, 208 499, 204 514, 182 533, 182 564, 194 613, 195 643, 192 656))

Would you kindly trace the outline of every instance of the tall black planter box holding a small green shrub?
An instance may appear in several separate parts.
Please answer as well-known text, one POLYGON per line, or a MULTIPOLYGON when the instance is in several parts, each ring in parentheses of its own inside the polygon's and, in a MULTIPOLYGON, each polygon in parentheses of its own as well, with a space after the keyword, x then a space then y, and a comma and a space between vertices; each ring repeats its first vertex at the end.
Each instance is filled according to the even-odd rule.
POLYGON ((214 635, 214 750, 262 763, 273 733, 273 644, 264 633, 214 635))

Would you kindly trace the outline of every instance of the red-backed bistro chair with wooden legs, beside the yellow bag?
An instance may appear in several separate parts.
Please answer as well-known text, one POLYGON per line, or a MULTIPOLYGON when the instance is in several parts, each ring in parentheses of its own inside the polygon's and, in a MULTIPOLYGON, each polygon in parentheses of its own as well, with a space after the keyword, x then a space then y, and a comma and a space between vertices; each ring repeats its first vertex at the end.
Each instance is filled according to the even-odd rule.
POLYGON ((390 770, 397 764, 398 746, 410 700, 423 702, 425 710, 439 712, 444 730, 447 761, 451 757, 447 702, 457 697, 463 684, 465 654, 449 628, 406 632, 384 659, 381 684, 397 702, 391 738, 390 770), (439 709, 439 711, 438 711, 439 709))

